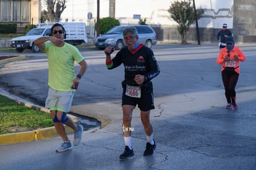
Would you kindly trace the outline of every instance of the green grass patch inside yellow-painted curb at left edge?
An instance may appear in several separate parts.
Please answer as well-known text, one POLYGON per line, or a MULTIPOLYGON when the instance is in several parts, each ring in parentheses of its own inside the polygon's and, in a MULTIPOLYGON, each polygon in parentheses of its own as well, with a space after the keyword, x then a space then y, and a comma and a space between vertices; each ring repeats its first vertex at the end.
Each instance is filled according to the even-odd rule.
POLYGON ((27 108, 0 96, 0 135, 52 126, 51 114, 27 108))

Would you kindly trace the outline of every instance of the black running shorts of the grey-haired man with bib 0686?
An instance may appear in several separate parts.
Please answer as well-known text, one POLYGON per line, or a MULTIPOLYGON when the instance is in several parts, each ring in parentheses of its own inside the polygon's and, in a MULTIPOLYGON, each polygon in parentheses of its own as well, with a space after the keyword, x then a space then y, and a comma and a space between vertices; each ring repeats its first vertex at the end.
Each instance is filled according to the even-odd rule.
POLYGON ((153 92, 142 93, 140 98, 132 98, 127 96, 126 93, 122 93, 122 105, 136 106, 137 104, 141 111, 155 109, 153 92))

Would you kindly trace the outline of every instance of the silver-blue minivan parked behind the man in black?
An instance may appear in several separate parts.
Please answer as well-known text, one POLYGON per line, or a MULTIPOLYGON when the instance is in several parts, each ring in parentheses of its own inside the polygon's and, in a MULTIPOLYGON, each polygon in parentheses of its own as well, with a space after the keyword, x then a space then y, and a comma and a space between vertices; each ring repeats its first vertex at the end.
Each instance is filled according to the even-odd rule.
MULTIPOLYGON (((121 25, 111 28, 106 34, 98 36, 95 46, 99 49, 105 49, 107 46, 114 46, 116 49, 124 47, 124 37, 122 31, 127 25, 121 25)), ((130 26, 130 25, 129 25, 130 26)), ((139 33, 139 43, 151 48, 156 45, 156 33, 148 25, 132 25, 137 28, 139 33)))

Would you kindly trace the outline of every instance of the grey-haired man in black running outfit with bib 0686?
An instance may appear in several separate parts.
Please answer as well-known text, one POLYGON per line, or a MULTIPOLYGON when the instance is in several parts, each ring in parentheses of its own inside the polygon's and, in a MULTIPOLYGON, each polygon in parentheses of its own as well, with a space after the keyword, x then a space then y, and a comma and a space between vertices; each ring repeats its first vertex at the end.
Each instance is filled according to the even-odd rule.
POLYGON ((155 140, 153 140, 153 127, 150 124, 150 110, 155 109, 151 79, 160 73, 160 69, 153 51, 139 43, 138 31, 135 27, 126 27, 123 36, 127 46, 122 48, 113 59, 110 56, 113 48, 107 47, 105 54, 108 69, 114 69, 121 64, 124 65, 122 130, 126 147, 119 158, 127 159, 134 156, 131 138, 134 129, 131 127, 131 121, 132 111, 136 105, 140 109, 140 116, 147 137, 146 150, 143 156, 153 155, 156 148, 155 140))

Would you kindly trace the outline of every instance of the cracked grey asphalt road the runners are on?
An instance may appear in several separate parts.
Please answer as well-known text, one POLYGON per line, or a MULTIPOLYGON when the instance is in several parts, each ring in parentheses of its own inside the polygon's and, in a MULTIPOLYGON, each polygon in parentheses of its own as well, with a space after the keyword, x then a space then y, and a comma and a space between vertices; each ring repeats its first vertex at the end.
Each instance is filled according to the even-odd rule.
MULTIPOLYGON (((256 49, 238 46, 247 59, 240 66, 237 110, 224 108, 218 46, 153 46, 161 70, 153 80, 156 109, 151 111, 157 147, 153 156, 142 156, 145 134, 135 109, 135 156, 127 161, 119 161, 124 149, 123 67, 107 70, 103 51, 80 49, 89 67, 75 93, 72 112, 109 122, 83 134, 82 143, 65 153, 54 153, 60 138, 0 146, 1 169, 255 169, 256 49)), ((0 56, 4 54, 16 53, 0 56)), ((43 106, 48 90, 46 56, 25 54, 25 59, 0 68, 1 88, 43 106)))

